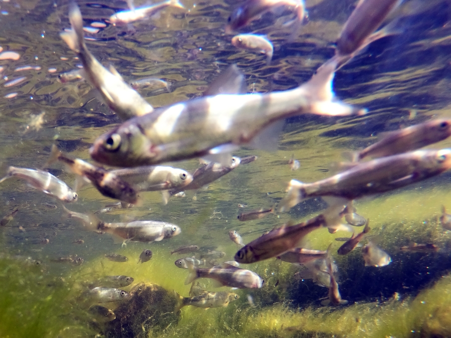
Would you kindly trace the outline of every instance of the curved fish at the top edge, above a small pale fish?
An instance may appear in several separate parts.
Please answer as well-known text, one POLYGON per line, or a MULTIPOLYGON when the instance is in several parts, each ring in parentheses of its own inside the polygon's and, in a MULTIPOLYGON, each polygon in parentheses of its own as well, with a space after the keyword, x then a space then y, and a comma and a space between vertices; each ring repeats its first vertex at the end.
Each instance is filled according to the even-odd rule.
POLYGON ((280 6, 293 8, 296 12, 297 25, 293 31, 297 32, 308 17, 304 0, 248 0, 232 12, 227 20, 228 24, 225 26, 225 33, 231 34, 233 31, 245 27, 264 13, 280 6))

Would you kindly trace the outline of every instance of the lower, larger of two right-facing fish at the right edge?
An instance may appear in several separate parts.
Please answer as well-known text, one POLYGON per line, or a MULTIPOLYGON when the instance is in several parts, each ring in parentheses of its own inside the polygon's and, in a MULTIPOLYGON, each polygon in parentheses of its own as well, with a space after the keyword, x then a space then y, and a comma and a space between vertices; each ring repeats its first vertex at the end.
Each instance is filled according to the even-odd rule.
POLYGON ((451 149, 416 150, 362 162, 314 183, 291 180, 287 195, 279 203, 279 211, 320 196, 346 204, 356 198, 422 181, 450 168, 451 149))

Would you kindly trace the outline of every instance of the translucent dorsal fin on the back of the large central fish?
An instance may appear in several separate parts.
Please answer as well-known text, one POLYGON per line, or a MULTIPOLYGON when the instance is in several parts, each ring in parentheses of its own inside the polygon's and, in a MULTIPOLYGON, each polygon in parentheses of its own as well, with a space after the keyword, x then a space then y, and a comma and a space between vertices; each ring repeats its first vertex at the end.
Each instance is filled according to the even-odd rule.
POLYGON ((218 94, 245 94, 247 85, 244 75, 236 64, 229 66, 219 76, 210 83, 203 96, 213 96, 218 94))

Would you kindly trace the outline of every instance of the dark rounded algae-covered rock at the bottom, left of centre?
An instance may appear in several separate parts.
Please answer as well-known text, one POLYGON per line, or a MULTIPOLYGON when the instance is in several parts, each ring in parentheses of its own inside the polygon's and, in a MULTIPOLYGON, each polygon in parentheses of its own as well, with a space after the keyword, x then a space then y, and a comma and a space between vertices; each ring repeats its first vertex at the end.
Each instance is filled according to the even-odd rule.
POLYGON ((116 319, 106 325, 107 337, 147 337, 176 325, 180 312, 174 313, 175 298, 163 287, 152 283, 139 283, 130 290, 129 301, 115 310, 116 319))

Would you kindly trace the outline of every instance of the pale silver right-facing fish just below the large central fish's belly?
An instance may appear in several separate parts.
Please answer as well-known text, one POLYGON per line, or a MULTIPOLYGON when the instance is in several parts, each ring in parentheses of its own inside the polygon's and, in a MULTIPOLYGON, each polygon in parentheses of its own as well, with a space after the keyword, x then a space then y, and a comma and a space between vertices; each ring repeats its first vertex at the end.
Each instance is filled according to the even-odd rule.
POLYGON ((186 170, 168 166, 143 166, 112 170, 111 173, 133 184, 138 191, 182 189, 192 182, 186 170))

